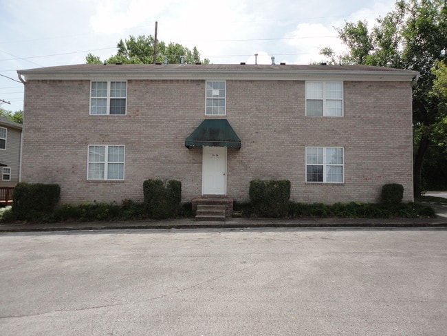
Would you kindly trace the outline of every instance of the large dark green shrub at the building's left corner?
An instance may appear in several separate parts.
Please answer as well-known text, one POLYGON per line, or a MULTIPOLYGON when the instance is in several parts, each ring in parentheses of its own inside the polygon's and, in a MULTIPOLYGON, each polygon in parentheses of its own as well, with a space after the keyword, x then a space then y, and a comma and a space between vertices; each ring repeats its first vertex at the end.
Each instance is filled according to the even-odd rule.
POLYGON ((18 220, 33 220, 43 213, 51 213, 60 199, 59 185, 21 182, 14 187, 12 212, 18 220))

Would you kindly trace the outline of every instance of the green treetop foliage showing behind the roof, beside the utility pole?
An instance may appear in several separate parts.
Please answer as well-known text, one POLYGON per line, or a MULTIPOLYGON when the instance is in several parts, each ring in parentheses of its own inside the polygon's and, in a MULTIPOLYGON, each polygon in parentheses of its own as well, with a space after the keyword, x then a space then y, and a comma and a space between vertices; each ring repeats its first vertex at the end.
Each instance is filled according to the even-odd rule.
MULTIPOLYGON (((196 47, 189 50, 179 43, 165 43, 157 41, 156 52, 154 52, 155 39, 152 35, 129 36, 129 39, 120 40, 117 44, 118 52, 105 60, 105 63, 125 63, 125 64, 151 64, 164 62, 165 57, 168 63, 180 63, 181 56, 185 56, 185 63, 210 63, 208 59, 201 60, 196 47), (154 61, 155 54, 155 61, 154 61)), ((87 54, 86 63, 100 64, 102 61, 98 56, 87 54)))

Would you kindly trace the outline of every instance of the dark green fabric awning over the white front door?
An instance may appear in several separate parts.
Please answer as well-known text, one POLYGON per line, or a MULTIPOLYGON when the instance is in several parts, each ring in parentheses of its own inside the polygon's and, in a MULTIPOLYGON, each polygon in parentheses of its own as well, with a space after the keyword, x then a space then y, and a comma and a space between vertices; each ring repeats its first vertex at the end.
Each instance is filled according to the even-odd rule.
POLYGON ((241 139, 226 119, 205 119, 185 140, 186 147, 236 147, 241 148, 241 139))

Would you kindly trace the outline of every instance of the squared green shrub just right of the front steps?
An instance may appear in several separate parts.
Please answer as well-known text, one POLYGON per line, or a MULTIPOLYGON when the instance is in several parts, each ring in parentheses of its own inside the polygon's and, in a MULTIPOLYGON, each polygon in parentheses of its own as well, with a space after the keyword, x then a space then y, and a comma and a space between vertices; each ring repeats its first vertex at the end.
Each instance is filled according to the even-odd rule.
POLYGON ((285 217, 290 199, 289 180, 252 180, 248 191, 253 210, 260 217, 285 217))

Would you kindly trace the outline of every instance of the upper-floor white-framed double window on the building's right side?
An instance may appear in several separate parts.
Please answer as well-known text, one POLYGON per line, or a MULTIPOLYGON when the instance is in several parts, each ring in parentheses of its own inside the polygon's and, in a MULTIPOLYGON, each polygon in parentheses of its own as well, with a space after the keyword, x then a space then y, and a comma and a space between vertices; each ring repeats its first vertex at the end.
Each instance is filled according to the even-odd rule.
POLYGON ((343 83, 306 82, 306 116, 343 116, 343 83))

